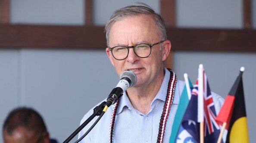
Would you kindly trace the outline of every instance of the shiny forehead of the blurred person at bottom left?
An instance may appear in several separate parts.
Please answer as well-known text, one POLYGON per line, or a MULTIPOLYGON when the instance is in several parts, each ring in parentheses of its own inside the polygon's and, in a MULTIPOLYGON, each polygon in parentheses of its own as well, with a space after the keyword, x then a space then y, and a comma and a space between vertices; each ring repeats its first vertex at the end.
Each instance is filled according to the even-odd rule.
POLYGON ((8 134, 5 130, 3 132, 4 143, 35 143, 37 136, 32 131, 23 127, 16 128, 12 134, 8 134))

